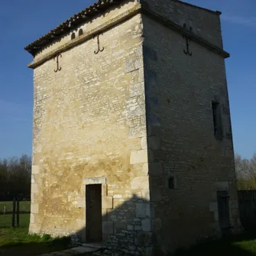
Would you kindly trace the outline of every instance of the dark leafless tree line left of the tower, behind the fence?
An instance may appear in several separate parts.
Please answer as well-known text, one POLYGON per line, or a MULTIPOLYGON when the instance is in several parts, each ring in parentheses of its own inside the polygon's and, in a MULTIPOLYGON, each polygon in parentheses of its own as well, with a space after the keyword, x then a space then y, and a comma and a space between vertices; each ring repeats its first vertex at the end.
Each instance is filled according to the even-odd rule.
POLYGON ((0 201, 31 195, 31 157, 0 159, 0 201))

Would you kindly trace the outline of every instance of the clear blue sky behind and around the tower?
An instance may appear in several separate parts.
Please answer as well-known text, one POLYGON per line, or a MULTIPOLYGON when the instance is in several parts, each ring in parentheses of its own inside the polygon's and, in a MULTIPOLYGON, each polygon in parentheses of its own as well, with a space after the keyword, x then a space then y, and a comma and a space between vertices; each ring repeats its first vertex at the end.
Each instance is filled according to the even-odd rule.
MULTIPOLYGON (((32 57, 24 47, 96 0, 2 0, 0 2, 0 158, 31 154, 33 114, 32 57)), ((228 92, 235 151, 256 152, 255 0, 186 0, 222 11, 228 92)))

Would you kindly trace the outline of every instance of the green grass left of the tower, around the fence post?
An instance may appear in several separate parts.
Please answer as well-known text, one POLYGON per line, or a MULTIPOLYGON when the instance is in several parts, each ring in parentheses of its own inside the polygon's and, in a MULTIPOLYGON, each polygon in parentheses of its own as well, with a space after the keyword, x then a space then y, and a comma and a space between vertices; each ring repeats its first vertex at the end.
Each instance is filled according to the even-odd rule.
POLYGON ((20 228, 11 228, 11 215, 0 215, 1 256, 32 256, 70 248, 69 238, 53 239, 48 235, 28 235, 29 219, 29 214, 21 214, 20 228))

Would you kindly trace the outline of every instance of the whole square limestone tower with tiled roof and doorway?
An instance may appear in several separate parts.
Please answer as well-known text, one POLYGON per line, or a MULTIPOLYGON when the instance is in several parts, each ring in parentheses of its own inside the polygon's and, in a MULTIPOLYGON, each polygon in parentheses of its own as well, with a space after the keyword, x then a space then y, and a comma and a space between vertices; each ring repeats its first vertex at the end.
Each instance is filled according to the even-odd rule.
POLYGON ((25 48, 31 233, 161 255, 238 232, 220 15, 101 0, 25 48))

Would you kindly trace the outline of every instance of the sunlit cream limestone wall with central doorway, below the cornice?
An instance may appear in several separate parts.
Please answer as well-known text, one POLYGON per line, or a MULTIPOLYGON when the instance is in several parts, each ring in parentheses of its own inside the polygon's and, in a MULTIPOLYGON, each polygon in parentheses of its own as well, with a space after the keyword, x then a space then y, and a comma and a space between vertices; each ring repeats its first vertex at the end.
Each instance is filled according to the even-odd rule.
MULTIPOLYGON (((85 186, 102 184, 103 239, 143 251, 150 232, 141 15, 34 70, 30 232, 82 236, 85 186), (89 179, 93 178, 93 179, 89 179), (124 235, 125 234, 125 235, 124 235)), ((47 53, 47 52, 45 52, 47 53)))

